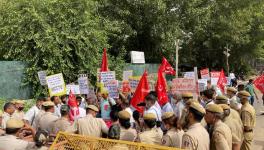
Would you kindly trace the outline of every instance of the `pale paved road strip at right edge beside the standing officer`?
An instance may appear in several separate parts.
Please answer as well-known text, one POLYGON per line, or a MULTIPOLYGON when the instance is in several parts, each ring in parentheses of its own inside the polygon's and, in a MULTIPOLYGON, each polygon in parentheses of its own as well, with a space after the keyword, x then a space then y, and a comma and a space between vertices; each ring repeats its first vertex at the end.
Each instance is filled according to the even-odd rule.
MULTIPOLYGON (((261 94, 258 94, 261 98, 261 94)), ((254 129, 254 141, 252 143, 252 150, 264 150, 264 115, 261 110, 264 110, 262 101, 255 102, 254 107, 257 113, 257 123, 254 129)))

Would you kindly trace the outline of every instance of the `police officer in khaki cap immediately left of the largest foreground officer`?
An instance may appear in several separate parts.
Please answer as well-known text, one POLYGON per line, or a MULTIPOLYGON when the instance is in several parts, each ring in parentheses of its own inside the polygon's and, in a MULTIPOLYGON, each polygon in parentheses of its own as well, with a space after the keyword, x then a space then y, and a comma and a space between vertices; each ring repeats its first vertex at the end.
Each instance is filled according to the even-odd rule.
POLYGON ((167 133, 162 137, 162 145, 180 148, 184 131, 177 129, 177 118, 174 112, 165 112, 162 115, 162 121, 167 130, 167 133))

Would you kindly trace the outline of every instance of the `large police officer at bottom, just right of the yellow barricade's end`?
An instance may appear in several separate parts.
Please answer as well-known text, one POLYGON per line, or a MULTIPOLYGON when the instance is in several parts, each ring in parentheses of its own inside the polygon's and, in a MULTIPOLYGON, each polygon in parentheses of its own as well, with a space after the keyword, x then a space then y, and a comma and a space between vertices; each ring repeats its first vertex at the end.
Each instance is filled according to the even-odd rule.
POLYGON ((182 137, 182 148, 191 150, 209 150, 209 134, 201 125, 205 110, 199 103, 193 102, 188 108, 186 121, 188 130, 182 137))

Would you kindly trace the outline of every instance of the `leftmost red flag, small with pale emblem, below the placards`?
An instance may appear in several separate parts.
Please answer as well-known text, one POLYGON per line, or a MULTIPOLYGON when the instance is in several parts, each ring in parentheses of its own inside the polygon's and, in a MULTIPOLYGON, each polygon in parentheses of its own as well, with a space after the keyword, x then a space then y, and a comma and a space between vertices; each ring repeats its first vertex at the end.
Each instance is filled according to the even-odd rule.
POLYGON ((68 105, 70 106, 70 121, 74 121, 77 116, 79 116, 79 108, 77 105, 77 100, 75 95, 70 90, 68 105))

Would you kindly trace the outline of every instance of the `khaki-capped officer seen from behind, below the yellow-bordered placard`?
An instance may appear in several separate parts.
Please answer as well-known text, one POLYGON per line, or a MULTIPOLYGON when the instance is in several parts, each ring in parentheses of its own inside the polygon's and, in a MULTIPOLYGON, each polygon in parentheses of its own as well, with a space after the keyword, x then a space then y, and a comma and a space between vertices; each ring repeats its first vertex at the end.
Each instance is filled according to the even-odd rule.
POLYGON ((58 116, 54 115, 55 104, 51 101, 46 101, 43 103, 43 107, 45 113, 41 116, 39 120, 39 128, 41 130, 48 131, 48 133, 52 133, 52 127, 56 120, 58 120, 58 116))

